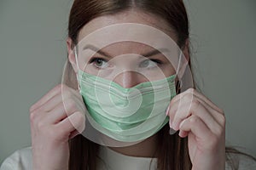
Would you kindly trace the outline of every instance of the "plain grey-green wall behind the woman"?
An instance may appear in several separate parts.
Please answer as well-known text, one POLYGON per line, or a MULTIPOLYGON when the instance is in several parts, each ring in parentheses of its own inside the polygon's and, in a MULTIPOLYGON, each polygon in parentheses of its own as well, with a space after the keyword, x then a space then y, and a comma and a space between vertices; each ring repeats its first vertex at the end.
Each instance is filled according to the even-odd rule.
MULTIPOLYGON (((0 164, 29 146, 29 107, 61 81, 69 1, 0 1, 0 164)), ((256 156, 256 3, 185 1, 202 92, 224 109, 227 144, 256 156)))

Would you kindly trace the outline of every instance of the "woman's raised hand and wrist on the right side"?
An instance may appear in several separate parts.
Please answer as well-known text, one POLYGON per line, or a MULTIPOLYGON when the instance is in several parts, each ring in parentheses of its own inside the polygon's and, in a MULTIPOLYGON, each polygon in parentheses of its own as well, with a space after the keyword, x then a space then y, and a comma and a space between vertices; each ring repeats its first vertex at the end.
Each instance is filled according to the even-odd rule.
POLYGON ((169 106, 170 127, 188 137, 193 170, 224 170, 224 111, 194 88, 177 94, 169 106))

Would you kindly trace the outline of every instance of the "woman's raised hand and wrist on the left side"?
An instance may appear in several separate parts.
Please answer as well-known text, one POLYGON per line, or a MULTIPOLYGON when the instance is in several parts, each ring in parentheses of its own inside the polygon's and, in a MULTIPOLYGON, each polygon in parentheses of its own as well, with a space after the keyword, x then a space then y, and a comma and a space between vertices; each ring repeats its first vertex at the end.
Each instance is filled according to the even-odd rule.
POLYGON ((32 167, 68 169, 68 139, 85 126, 85 106, 78 90, 59 84, 30 108, 32 167))

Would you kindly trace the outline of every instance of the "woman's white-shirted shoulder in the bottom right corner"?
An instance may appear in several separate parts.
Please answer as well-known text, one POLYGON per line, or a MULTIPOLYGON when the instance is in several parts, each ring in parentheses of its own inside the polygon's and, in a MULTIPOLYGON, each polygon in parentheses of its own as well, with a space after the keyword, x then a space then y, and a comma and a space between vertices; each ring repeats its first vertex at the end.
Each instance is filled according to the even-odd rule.
POLYGON ((226 158, 226 170, 231 170, 231 169, 255 170, 256 169, 256 160, 253 159, 253 157, 247 156, 244 154, 230 153, 226 158))

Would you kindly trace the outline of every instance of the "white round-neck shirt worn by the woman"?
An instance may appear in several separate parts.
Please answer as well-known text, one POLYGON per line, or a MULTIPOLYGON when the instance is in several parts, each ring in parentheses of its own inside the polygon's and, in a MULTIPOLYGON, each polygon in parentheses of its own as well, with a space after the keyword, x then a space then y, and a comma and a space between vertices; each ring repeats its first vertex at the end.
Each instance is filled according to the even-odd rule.
MULTIPOLYGON (((99 157, 105 161, 97 160, 99 170, 154 170, 157 166, 157 158, 125 156, 104 146, 100 147, 99 157)), ((236 163, 239 163, 239 170, 256 170, 256 161, 246 156, 240 156, 236 163)), ((227 164, 226 169, 230 170, 227 164)), ((3 161, 0 170, 32 170, 32 148, 16 150, 3 161)))

